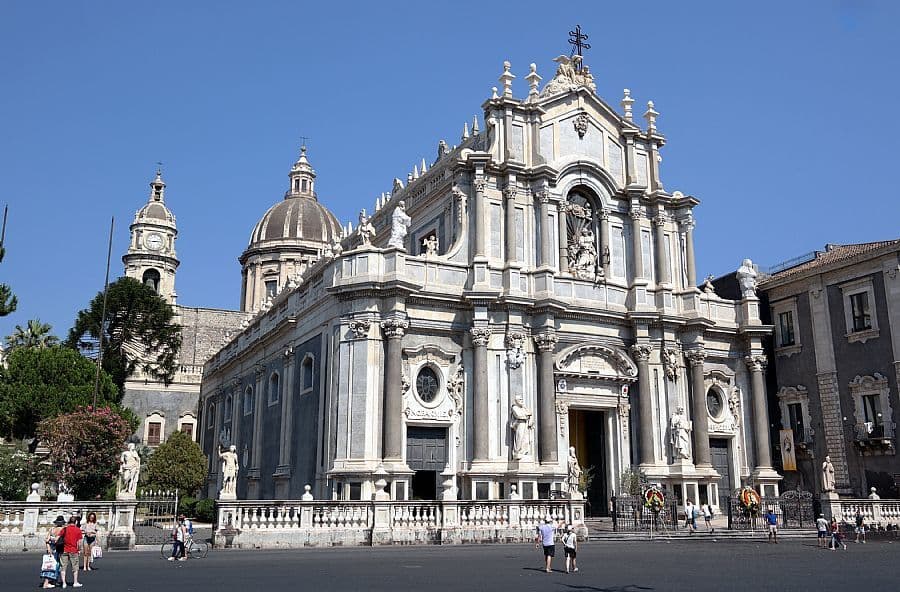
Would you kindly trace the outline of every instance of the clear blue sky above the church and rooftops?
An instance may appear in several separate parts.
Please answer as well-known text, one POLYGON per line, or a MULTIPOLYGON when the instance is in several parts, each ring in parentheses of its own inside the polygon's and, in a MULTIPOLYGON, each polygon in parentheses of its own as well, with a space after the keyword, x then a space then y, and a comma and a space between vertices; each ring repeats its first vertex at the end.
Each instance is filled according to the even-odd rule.
POLYGON ((900 236, 897 2, 45 2, 0 14, 0 281, 60 335, 113 277, 165 163, 179 301, 236 308, 237 257, 309 136, 346 222, 437 141, 457 143, 512 62, 545 80, 591 35, 601 96, 653 99, 666 188, 702 200, 698 275, 900 236))

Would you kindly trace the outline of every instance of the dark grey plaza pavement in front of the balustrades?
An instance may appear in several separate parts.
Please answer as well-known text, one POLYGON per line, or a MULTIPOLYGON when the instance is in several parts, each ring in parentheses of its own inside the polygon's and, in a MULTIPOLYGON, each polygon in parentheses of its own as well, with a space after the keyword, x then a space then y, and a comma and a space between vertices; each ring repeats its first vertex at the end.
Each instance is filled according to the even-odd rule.
MULTIPOLYGON (((213 550, 206 559, 167 562, 159 552, 107 553, 82 574, 84 591, 256 590, 652 592, 896 590, 900 543, 817 549, 813 539, 679 543, 589 542, 580 572, 542 571, 532 545, 395 546, 294 551, 213 550)), ((36 589, 40 556, 0 556, 0 590, 36 589)), ((71 583, 71 580, 70 580, 71 583)))

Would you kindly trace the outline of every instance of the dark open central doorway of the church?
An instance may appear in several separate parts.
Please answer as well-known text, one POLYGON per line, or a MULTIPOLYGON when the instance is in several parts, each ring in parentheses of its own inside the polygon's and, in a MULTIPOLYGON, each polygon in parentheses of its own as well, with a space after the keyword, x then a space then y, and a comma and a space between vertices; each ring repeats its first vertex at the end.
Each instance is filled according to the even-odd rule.
POLYGON ((588 516, 609 515, 607 437, 604 411, 569 410, 569 445, 590 480, 584 496, 588 516))

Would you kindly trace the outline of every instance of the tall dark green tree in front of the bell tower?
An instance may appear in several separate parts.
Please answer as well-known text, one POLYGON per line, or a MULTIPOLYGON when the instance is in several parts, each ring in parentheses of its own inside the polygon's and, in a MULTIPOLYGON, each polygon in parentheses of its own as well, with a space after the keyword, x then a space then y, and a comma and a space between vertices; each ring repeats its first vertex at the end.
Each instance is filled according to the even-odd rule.
MULTIPOLYGON (((100 338, 103 292, 80 311, 66 345, 77 348, 86 336, 100 338)), ((168 384, 175 376, 181 327, 169 304, 149 286, 123 277, 109 285, 103 369, 119 389, 136 370, 168 384)))

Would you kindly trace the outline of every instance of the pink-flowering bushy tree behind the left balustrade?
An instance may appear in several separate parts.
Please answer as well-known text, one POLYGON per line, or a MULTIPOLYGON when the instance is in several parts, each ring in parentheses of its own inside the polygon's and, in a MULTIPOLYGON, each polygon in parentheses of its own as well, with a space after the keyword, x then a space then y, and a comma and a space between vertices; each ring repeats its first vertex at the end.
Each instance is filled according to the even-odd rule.
POLYGON ((76 499, 99 498, 116 479, 119 455, 134 427, 110 407, 80 407, 45 419, 38 437, 50 448, 50 465, 57 483, 76 499))

